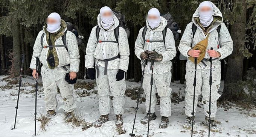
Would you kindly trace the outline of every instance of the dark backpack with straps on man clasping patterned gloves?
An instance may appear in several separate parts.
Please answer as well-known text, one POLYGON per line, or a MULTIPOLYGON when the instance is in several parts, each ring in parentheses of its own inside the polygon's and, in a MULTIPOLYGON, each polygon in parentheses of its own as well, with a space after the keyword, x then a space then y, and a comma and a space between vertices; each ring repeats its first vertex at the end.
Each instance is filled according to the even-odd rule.
POLYGON ((167 20, 167 25, 166 25, 165 29, 162 31, 163 41, 149 41, 149 40, 146 40, 145 37, 146 37, 146 32, 148 30, 147 26, 145 26, 143 31, 142 31, 142 37, 143 37, 144 41, 146 41, 146 42, 164 42, 165 43, 165 36, 166 36, 167 28, 171 29, 171 31, 174 35, 174 40, 175 41, 177 41, 179 39, 180 30, 178 28, 178 23, 176 23, 173 20, 172 15, 169 14, 169 12, 168 12, 167 14, 163 15, 162 17, 167 20))

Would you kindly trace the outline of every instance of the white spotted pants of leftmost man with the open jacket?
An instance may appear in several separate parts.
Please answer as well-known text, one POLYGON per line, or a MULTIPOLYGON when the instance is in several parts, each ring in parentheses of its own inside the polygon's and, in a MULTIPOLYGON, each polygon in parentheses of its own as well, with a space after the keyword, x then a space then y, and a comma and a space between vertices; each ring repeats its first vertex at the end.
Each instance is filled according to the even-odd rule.
MULTIPOLYGON (((69 69, 69 66, 66 66, 69 69)), ((63 98, 63 109, 65 112, 72 112, 76 108, 75 99, 73 96, 74 85, 67 83, 65 80, 66 73, 63 68, 49 69, 45 66, 41 68, 41 75, 44 87, 44 102, 46 111, 54 110, 58 106, 56 99, 57 87, 63 98)))

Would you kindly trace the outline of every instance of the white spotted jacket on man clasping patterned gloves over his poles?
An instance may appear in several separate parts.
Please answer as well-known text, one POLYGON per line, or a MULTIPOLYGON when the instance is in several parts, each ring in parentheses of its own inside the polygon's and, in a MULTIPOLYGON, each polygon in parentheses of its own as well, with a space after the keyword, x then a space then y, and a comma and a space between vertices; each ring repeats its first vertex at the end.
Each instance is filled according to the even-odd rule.
MULTIPOLYGON (((148 30, 146 32, 145 39, 149 39, 149 41, 162 41, 163 40, 163 33, 162 31, 165 29, 167 25, 167 20, 165 18, 160 17, 160 26, 156 29, 152 30, 149 25, 148 21, 146 21, 146 26, 148 30)), ((176 56, 176 48, 175 48, 175 40, 172 34, 172 31, 167 28, 166 36, 165 36, 165 43, 164 42, 145 42, 143 39, 143 31, 144 27, 140 29, 139 35, 135 42, 135 54, 141 60, 140 54, 144 51, 157 51, 158 54, 162 54, 163 60, 161 62, 154 63, 154 71, 153 74, 163 74, 165 72, 171 71, 172 62, 171 60, 176 56)), ((144 67, 144 60, 141 61, 142 70, 144 67)), ((145 68, 145 74, 151 74, 150 71, 150 63, 145 68)))

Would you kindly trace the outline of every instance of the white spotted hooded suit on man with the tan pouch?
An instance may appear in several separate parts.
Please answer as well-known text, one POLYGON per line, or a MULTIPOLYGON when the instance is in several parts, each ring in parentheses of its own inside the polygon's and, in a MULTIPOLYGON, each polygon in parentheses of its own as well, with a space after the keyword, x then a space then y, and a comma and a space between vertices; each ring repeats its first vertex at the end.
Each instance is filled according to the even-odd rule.
MULTIPOLYGON (((213 4, 213 3, 212 3, 213 4)), ((229 34, 229 31, 224 23, 222 23, 223 18, 222 14, 219 11, 219 9, 213 4, 213 16, 221 18, 221 20, 215 21, 212 25, 212 29, 209 31, 210 36, 208 39, 208 46, 207 50, 210 50, 211 47, 213 47, 213 50, 218 51, 221 54, 221 57, 219 59, 224 59, 225 57, 229 56, 233 51, 233 41, 231 39, 231 36, 229 34), (216 28, 221 25, 221 30, 218 36, 218 32, 216 28)), ((195 21, 195 18, 199 17, 198 9, 193 15, 193 22, 189 23, 186 27, 186 30, 184 31, 184 34, 181 38, 179 50, 181 54, 183 54, 186 57, 189 57, 187 55, 187 52, 191 49, 190 44, 192 43, 192 46, 194 47, 195 44, 202 41, 206 38, 204 35, 204 32, 202 31, 200 25, 198 25, 195 21), (192 24, 195 23, 197 28, 197 31, 195 33, 193 42, 193 33, 192 33, 192 24)), ((206 51, 207 51, 206 50, 206 51)), ((210 56, 208 53, 205 54, 206 59, 209 59, 210 56)), ((214 59, 214 58, 213 58, 214 59)), ((205 62, 207 66, 204 66, 203 63, 199 63, 197 65, 197 86, 195 91, 195 112, 197 110, 197 102, 198 102, 198 96, 202 93, 203 95, 203 104, 204 104, 204 114, 206 116, 209 116, 207 113, 209 111, 209 91, 210 91, 210 85, 209 85, 209 77, 210 77, 210 62, 205 62)), ((186 115, 192 116, 193 111, 193 94, 194 94, 194 74, 195 74, 195 64, 192 63, 190 60, 187 60, 186 64, 186 115)), ((211 117, 216 116, 216 101, 219 98, 219 84, 221 82, 221 62, 219 60, 213 60, 212 61, 212 94, 211 94, 211 117)))

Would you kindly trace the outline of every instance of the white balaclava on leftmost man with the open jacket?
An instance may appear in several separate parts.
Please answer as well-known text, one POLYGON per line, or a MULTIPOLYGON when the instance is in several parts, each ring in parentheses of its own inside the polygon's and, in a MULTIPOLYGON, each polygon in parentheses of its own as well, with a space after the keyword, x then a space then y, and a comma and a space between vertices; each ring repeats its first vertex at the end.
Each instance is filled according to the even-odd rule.
POLYGON ((50 33, 58 32, 61 29, 61 16, 56 12, 51 13, 48 18, 53 18, 57 21, 55 24, 47 24, 46 30, 50 33))

